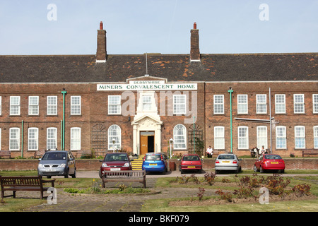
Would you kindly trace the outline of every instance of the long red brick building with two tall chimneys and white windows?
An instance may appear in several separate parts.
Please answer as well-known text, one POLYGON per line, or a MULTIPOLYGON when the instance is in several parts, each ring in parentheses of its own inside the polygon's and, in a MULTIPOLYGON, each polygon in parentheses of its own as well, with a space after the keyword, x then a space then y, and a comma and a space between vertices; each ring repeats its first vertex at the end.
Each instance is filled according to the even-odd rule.
POLYGON ((318 149, 317 53, 0 56, 0 148, 283 156, 318 149), (270 120, 272 119, 272 120, 270 120), (194 142, 195 141, 195 142, 194 142))

